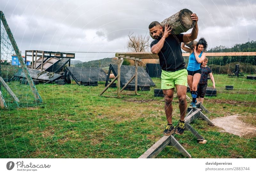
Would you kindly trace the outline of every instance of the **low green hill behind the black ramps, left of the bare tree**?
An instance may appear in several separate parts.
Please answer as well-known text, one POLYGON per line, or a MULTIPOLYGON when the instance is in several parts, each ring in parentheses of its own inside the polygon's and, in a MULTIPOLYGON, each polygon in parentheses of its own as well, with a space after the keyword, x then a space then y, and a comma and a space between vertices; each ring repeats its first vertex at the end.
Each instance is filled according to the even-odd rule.
POLYGON ((88 62, 81 62, 75 64, 76 67, 106 67, 109 66, 109 64, 117 64, 117 58, 104 58, 100 60, 92 60, 88 62))

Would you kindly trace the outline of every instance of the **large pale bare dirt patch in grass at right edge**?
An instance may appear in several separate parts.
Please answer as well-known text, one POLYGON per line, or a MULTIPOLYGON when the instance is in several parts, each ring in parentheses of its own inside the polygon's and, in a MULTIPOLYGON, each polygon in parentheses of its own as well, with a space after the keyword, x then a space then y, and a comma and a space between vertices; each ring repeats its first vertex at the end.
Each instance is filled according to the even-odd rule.
POLYGON ((224 131, 240 137, 254 137, 256 127, 248 125, 238 119, 238 115, 219 117, 211 120, 215 126, 223 128, 224 131))

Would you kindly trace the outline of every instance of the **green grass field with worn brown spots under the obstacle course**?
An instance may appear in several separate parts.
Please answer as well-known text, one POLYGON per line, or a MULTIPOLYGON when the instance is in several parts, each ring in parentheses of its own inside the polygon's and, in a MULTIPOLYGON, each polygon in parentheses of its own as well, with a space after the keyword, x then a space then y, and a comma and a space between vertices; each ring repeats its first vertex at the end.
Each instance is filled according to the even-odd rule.
MULTIPOLYGON (((256 81, 227 75, 214 78, 217 97, 205 99, 204 106, 211 111, 205 115, 213 119, 237 114, 245 124, 255 125, 256 81), (225 90, 226 85, 234 90, 225 90)), ((103 83, 98 87, 37 85, 42 104, 0 110, 0 157, 138 158, 163 136, 166 125, 164 102, 159 101, 163 98, 153 96, 161 80, 152 79, 156 87, 149 92, 121 99, 94 96, 104 89, 103 83)), ((176 125, 178 103, 173 103, 173 120, 176 125)), ((206 144, 198 144, 190 132, 175 138, 193 158, 256 158, 256 133, 239 137, 199 119, 191 125, 206 144)), ((184 157, 176 148, 166 147, 157 158, 184 157)))

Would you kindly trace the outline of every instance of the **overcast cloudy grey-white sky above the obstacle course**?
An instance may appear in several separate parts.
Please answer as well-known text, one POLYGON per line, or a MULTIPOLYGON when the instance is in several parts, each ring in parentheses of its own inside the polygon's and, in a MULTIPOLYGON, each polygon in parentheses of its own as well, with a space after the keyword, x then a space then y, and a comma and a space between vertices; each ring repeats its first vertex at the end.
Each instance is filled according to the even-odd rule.
POLYGON ((22 52, 98 52, 76 53, 82 61, 126 52, 129 32, 148 34, 150 22, 184 8, 198 15, 209 48, 256 40, 255 0, 0 0, 22 52))

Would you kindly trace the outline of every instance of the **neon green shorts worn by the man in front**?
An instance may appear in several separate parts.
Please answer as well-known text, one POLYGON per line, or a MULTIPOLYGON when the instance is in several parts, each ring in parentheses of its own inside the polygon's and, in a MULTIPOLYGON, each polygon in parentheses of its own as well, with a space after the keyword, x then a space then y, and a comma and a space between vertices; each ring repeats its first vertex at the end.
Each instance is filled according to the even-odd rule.
POLYGON ((172 89, 175 85, 188 85, 188 71, 186 69, 175 72, 167 72, 162 70, 161 74, 161 89, 172 89))

